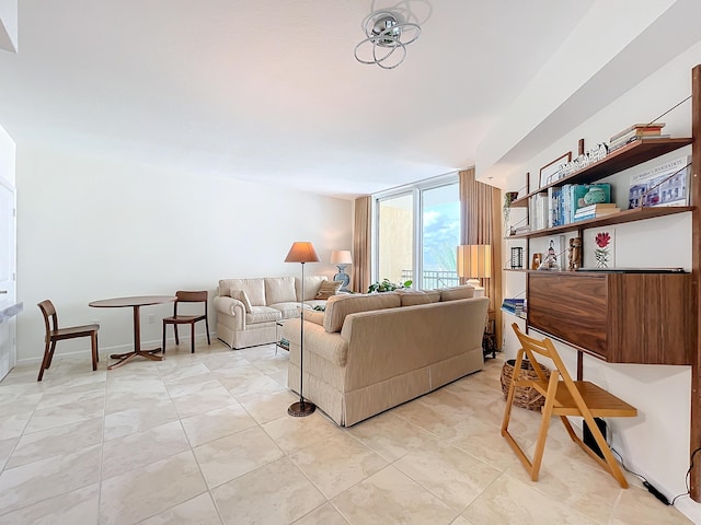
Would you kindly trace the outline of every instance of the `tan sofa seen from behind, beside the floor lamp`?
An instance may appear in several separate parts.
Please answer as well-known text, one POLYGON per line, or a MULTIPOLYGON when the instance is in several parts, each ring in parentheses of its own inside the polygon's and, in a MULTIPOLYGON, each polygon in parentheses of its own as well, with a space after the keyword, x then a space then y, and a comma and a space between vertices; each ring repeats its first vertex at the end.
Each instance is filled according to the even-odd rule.
MULTIPOLYGON (((304 398, 349 427, 482 369, 487 298, 470 287, 337 295, 304 312, 304 398)), ((300 319, 285 323, 299 392, 300 319)))

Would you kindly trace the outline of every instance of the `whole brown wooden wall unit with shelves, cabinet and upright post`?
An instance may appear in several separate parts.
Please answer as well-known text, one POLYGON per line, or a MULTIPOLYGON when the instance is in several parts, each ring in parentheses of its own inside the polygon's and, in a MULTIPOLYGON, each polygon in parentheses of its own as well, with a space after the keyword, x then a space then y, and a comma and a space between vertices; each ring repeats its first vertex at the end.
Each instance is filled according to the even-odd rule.
MULTIPOLYGON (((516 199, 510 206, 514 208, 528 208, 530 197, 547 191, 551 186, 591 184, 690 144, 692 164, 691 176, 689 177, 689 192, 692 206, 637 208, 621 211, 613 215, 510 235, 506 238, 526 240, 528 246, 528 240, 532 237, 635 222, 676 213, 691 213, 691 273, 686 276, 658 275, 658 277, 648 275, 640 277, 639 275, 636 278, 627 279, 612 277, 613 275, 599 275, 595 279, 598 279, 597 285, 600 293, 595 298, 594 295, 596 294, 586 291, 587 287, 575 283, 577 279, 585 278, 586 276, 583 273, 586 272, 560 271, 545 275, 547 272, 543 271, 526 270, 526 295, 528 298, 526 325, 527 328, 530 326, 533 329, 543 331, 545 335, 552 335, 554 339, 559 339, 577 349, 579 354, 577 375, 582 374, 583 353, 588 353, 609 362, 691 364, 690 454, 694 456, 693 460, 690 462, 689 487, 691 499, 701 502, 701 452, 699 452, 701 451, 701 340, 698 328, 701 323, 701 284, 699 283, 701 272, 701 184, 698 180, 701 175, 701 65, 692 69, 691 98, 692 138, 637 140, 548 186, 533 191, 527 189, 527 195, 516 199), (535 279, 531 279, 531 277, 535 279), (641 283, 636 283, 636 279, 641 280, 641 283), (531 280, 537 282, 528 282, 531 280), (563 308, 564 313, 559 312, 556 316, 548 317, 543 313, 548 312, 547 308, 551 304, 550 300, 554 300, 553 290, 556 288, 554 284, 558 282, 568 290, 567 293, 577 294, 581 308, 575 312, 577 308, 571 302, 563 308), (533 285, 537 289, 533 289, 533 285), (643 298, 641 291, 636 289, 639 285, 647 287, 648 291, 654 288, 657 291, 656 295, 666 298, 665 301, 657 301, 651 304, 650 294, 643 298), (675 294, 667 293, 669 290, 674 290, 675 294), (601 310, 600 312, 594 312, 596 315, 593 317, 591 305, 596 303, 595 299, 600 303, 601 310), (640 304, 645 304, 644 313, 641 312, 640 304), (536 317, 532 317, 533 312, 536 312, 536 317), (604 317, 600 315, 602 312, 606 313, 604 317), (670 312, 674 312, 671 317, 670 312), (690 314, 687 312, 690 312, 690 314), (642 314, 644 314, 644 319, 640 318, 642 314), (599 317, 596 317, 597 315, 599 317), (573 341, 572 331, 581 329, 582 323, 586 324, 587 319, 595 325, 606 325, 606 328, 599 327, 598 331, 595 330, 593 335, 598 339, 594 342, 586 337, 573 341), (663 320, 660 322, 659 319, 663 320), (677 326, 677 335, 674 338, 669 339, 667 332, 660 332, 655 336, 657 339, 654 345, 645 345, 642 339, 635 339, 635 327, 640 327, 643 320, 647 328, 669 326, 665 325, 664 319, 676 325, 681 323, 681 325, 677 326), (531 324, 531 322, 535 324, 531 324), (563 331, 562 327, 566 324, 568 324, 568 329, 563 331), (620 334, 627 334, 629 339, 621 338, 620 334), (664 348, 665 343, 675 346, 675 351, 667 354, 664 348)), ((565 295, 568 296, 567 294, 565 295)), ((562 294, 559 296, 562 296, 562 294)), ((596 327, 591 326, 590 328, 595 329, 596 327)))

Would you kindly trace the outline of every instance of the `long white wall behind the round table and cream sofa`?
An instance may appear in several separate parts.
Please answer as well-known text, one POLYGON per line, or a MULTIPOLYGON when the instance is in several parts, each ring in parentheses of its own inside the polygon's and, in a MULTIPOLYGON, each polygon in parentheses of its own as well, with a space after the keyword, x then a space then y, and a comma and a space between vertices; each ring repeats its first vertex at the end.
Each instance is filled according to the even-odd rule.
MULTIPOLYGON (((179 289, 212 298, 222 278, 299 276, 300 265, 284 262, 295 241, 311 241, 322 259, 306 275, 331 278, 331 250, 352 246, 352 201, 223 176, 20 145, 16 188, 20 361, 43 353, 35 305, 44 299, 62 325, 99 320, 106 355, 133 345, 131 308, 91 308, 90 301, 179 289)), ((141 308, 142 341, 160 341, 169 312, 172 304, 141 308)), ((212 331, 214 318, 210 307, 212 331)), ((88 340, 61 341, 57 353, 88 348, 88 340)))

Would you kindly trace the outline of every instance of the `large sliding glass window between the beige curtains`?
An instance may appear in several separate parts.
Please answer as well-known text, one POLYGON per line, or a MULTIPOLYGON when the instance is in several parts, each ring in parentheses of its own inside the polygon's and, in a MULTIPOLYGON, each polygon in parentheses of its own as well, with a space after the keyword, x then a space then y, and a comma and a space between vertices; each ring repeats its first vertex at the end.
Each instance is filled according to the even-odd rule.
POLYGON ((374 278, 413 281, 415 289, 459 283, 460 244, 457 174, 375 196, 374 278))

